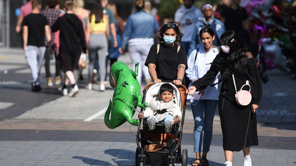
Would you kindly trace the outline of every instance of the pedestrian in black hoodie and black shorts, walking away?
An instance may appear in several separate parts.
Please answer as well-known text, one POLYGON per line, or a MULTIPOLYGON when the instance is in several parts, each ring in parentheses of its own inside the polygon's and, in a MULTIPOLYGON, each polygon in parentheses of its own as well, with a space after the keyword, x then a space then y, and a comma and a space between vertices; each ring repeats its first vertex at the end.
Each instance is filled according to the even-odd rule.
POLYGON ((74 97, 79 92, 79 88, 76 85, 73 70, 77 70, 81 51, 86 54, 87 47, 83 24, 73 12, 74 5, 72 0, 66 1, 64 7, 66 14, 56 20, 52 25, 52 31, 60 30, 59 57, 66 77, 62 87, 63 94, 74 97), (67 86, 69 83, 71 84, 71 91, 68 94, 67 86))

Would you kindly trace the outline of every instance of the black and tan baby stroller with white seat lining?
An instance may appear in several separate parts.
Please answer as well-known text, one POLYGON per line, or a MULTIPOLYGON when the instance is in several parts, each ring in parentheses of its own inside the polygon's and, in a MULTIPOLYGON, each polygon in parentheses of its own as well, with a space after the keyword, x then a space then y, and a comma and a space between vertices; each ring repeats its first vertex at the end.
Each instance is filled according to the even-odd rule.
MULTIPOLYGON (((158 94, 162 83, 149 83, 143 90, 142 103, 150 103, 152 100, 160 100, 158 94)), ((170 133, 165 133, 165 124, 156 123, 154 130, 149 130, 147 119, 140 119, 137 132, 136 166, 147 165, 187 165, 187 149, 181 149, 181 139, 186 109, 186 90, 184 85, 174 87, 174 103, 179 105, 182 112, 181 122, 172 126, 170 133), (141 129, 141 121, 143 129, 141 129), (179 130, 180 128, 180 130, 179 130)), ((141 109, 141 112, 144 110, 141 109)))

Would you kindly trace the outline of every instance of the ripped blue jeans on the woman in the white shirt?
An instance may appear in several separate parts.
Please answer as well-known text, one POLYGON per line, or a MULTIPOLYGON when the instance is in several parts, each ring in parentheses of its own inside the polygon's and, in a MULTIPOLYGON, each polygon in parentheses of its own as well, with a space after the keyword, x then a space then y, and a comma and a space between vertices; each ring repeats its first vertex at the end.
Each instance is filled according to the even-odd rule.
POLYGON ((204 145, 203 151, 210 151, 210 145, 213 136, 213 120, 218 100, 193 100, 191 109, 194 119, 193 141, 194 152, 201 152, 201 143, 203 141, 204 131, 204 145))

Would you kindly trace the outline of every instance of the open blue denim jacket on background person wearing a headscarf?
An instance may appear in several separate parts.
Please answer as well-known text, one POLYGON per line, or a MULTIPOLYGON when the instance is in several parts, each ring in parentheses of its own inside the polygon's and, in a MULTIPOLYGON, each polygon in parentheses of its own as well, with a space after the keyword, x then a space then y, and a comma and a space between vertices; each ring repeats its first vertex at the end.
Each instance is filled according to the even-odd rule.
MULTIPOLYGON (((190 43, 190 47, 189 47, 189 52, 188 53, 191 53, 194 49, 197 49, 197 48, 200 48, 200 47, 203 47, 203 44, 201 43, 200 41, 200 37, 199 37, 199 31, 206 27, 203 23, 203 18, 199 18, 200 21, 198 21, 196 24, 195 24, 195 27, 194 27, 194 31, 193 31, 193 34, 192 34, 192 40, 191 40, 191 43, 190 43)), ((220 36, 225 32, 225 27, 224 27, 224 24, 222 21, 218 20, 217 18, 214 18, 214 24, 216 24, 216 33, 218 36, 215 36, 215 40, 220 40, 220 36)))

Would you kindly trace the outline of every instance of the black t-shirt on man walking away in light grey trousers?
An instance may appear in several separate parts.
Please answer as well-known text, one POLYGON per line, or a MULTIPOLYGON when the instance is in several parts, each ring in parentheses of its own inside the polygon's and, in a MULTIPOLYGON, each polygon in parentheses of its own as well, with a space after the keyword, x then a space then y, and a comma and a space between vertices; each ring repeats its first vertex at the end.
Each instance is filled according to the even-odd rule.
POLYGON ((23 20, 23 26, 28 26, 28 45, 45 46, 45 25, 48 25, 46 17, 42 14, 29 14, 23 20))

